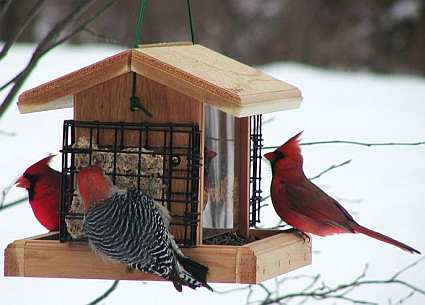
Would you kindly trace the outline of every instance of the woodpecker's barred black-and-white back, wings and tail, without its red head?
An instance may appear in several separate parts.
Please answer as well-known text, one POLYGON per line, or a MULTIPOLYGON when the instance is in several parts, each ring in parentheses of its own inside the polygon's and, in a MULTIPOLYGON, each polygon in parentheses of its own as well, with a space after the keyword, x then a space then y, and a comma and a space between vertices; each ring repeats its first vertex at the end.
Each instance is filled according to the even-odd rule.
POLYGON ((142 191, 117 191, 87 211, 84 232, 90 245, 130 267, 182 285, 206 287, 208 268, 184 256, 168 231, 168 211, 142 191))

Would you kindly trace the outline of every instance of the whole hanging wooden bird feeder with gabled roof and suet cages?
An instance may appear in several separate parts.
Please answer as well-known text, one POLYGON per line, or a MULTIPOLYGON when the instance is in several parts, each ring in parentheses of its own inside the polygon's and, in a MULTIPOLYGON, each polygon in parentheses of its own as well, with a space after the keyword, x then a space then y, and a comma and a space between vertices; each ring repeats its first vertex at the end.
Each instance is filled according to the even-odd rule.
POLYGON ((294 86, 188 43, 126 50, 25 91, 21 113, 73 107, 74 117, 63 125, 60 231, 10 244, 5 275, 160 280, 89 249, 75 185, 88 164, 166 206, 209 282, 254 284, 310 264, 310 241, 255 228, 261 115, 300 102, 294 86))

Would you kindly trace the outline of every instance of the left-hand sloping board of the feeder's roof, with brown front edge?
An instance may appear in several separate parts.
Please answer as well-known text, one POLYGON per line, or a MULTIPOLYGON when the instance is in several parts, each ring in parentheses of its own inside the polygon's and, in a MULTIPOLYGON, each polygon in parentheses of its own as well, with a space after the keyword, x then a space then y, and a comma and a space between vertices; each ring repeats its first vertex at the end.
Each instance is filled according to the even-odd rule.
POLYGON ((72 107, 72 95, 130 71, 131 50, 66 74, 19 96, 21 113, 72 107))

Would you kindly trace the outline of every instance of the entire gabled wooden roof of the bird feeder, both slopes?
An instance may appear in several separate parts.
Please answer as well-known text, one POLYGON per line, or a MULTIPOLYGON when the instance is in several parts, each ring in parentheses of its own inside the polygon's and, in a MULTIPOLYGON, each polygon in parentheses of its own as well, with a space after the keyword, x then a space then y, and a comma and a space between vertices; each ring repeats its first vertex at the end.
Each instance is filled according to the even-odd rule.
POLYGON ((21 113, 73 106, 73 96, 136 72, 237 117, 299 107, 296 87, 201 45, 155 44, 130 49, 22 93, 21 113))

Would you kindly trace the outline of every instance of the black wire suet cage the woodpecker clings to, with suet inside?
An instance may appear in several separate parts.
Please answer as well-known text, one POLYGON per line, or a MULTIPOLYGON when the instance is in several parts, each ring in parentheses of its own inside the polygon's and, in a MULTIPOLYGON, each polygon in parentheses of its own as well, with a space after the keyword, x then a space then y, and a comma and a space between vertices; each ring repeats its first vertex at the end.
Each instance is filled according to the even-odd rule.
POLYGON ((200 131, 197 124, 66 120, 60 240, 84 240, 78 168, 97 165, 119 188, 143 190, 167 207, 181 246, 196 245, 200 131))

